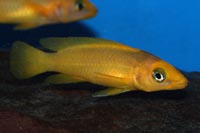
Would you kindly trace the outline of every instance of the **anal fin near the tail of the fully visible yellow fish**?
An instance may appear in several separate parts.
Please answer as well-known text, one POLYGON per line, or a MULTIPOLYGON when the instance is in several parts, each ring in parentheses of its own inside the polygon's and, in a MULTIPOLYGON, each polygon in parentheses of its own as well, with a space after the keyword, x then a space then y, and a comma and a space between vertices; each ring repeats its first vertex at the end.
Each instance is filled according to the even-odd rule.
POLYGON ((56 75, 49 76, 46 79, 46 82, 50 84, 69 84, 69 83, 84 82, 84 80, 75 78, 75 77, 70 77, 65 74, 56 74, 56 75))

